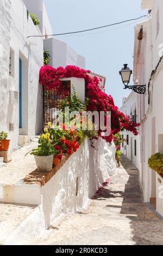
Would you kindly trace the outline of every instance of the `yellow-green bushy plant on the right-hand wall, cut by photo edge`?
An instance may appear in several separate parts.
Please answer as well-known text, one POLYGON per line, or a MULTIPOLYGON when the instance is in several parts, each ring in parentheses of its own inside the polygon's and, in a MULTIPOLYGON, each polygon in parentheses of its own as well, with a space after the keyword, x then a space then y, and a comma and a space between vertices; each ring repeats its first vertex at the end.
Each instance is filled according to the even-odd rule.
POLYGON ((163 154, 156 153, 149 157, 148 166, 158 174, 163 174, 163 154))

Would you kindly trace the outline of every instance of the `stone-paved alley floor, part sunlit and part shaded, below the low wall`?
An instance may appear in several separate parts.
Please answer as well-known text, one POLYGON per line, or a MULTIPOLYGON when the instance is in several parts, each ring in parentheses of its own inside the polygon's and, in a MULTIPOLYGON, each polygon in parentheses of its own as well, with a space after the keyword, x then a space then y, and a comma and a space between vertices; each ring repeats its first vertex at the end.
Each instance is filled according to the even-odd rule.
POLYGON ((163 221, 142 203, 139 172, 122 155, 122 166, 91 200, 68 215, 47 240, 32 245, 163 245, 163 221))

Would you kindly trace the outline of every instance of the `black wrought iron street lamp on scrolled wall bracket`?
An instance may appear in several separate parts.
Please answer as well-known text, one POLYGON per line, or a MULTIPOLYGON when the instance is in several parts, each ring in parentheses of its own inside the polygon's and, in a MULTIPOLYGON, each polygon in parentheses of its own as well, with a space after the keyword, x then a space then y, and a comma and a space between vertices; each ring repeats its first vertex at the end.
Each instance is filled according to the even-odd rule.
POLYGON ((124 68, 120 71, 120 75, 122 77, 122 82, 124 84, 124 89, 131 89, 135 93, 139 94, 145 94, 146 92, 146 84, 141 86, 128 86, 130 82, 131 75, 133 74, 133 71, 128 68, 128 64, 124 64, 124 68))

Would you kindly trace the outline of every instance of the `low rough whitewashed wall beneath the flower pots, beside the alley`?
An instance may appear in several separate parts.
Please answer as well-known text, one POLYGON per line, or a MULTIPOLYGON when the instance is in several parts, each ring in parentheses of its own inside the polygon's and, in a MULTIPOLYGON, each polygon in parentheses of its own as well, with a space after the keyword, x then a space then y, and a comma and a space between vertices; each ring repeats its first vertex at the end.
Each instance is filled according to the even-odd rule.
POLYGON ((90 141, 85 139, 77 153, 65 162, 45 186, 20 185, 19 200, 22 197, 22 202, 17 203, 38 206, 8 237, 5 244, 22 244, 24 240, 39 236, 42 230, 63 214, 87 208, 89 199, 98 187, 116 173, 114 143, 110 145, 100 138, 94 144, 96 150, 91 148, 90 141))

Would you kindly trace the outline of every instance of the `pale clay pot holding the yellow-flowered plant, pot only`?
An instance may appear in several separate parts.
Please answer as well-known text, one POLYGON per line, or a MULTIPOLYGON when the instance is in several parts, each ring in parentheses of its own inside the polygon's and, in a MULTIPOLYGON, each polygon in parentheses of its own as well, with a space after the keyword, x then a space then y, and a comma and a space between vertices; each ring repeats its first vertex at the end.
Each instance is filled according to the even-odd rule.
POLYGON ((51 172, 51 170, 53 169, 54 155, 51 155, 51 156, 34 155, 34 157, 36 161, 37 170, 39 172, 51 172))

